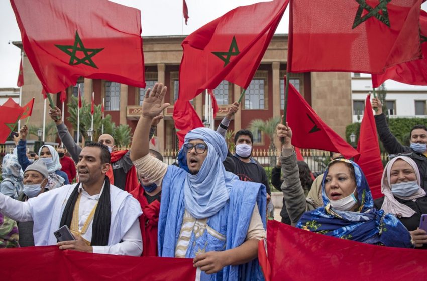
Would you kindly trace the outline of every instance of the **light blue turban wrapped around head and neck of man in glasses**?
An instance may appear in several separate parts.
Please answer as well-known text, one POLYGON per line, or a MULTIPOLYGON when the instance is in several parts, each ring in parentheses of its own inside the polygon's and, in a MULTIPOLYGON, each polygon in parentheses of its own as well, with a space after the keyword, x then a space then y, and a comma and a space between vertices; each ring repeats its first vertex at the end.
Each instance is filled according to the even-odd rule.
POLYGON ((179 151, 179 166, 188 173, 185 178, 185 207, 197 219, 208 218, 220 211, 230 198, 230 189, 238 180, 226 172, 223 161, 227 157, 227 144, 222 135, 207 128, 191 130, 185 136, 184 144, 201 139, 207 144, 207 156, 196 175, 189 173, 187 154, 179 151))

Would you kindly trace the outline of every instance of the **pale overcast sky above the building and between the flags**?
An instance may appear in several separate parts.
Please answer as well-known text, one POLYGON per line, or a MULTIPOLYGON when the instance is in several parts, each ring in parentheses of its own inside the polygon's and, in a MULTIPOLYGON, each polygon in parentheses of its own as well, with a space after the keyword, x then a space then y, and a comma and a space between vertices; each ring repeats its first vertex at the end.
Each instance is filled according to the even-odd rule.
MULTIPOLYGON (((72 1, 72 0, 58 0, 72 1)), ((182 0, 113 0, 141 10, 142 36, 188 35, 228 11, 263 0, 186 0, 188 23, 182 15, 182 0)), ((29 1, 31 3, 31 1, 29 1)), ((286 11, 276 33, 288 32, 286 11)), ((17 87, 20 49, 12 41, 21 41, 21 34, 11 4, 0 1, 0 88, 17 87)))

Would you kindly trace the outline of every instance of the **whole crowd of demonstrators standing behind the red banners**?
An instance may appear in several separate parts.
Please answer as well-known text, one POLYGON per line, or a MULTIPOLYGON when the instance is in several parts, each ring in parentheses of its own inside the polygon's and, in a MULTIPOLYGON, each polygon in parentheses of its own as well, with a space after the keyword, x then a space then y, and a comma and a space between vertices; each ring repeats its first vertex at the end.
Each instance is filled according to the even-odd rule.
MULTIPOLYGON (((187 133, 176 165, 150 149, 167 91, 161 83, 147 90, 129 151, 114 138, 79 147, 50 109, 64 148, 43 145, 27 153, 28 128, 20 129, 16 151, 3 158, 0 184, 0 247, 58 245, 92 253, 193 258, 201 280, 263 279, 257 255, 266 237, 270 185, 252 157, 253 135, 236 132, 235 153, 225 133, 239 104, 231 106, 217 131, 187 133), (69 154, 71 157, 68 157, 69 154), (76 164, 75 164, 76 163, 76 164), (78 177, 78 178, 76 178, 78 177), (75 180, 77 183, 72 184, 75 180), (57 241, 67 226, 75 240, 57 241)), ((387 127, 381 102, 375 121, 390 154, 382 176, 382 198, 374 200, 362 169, 331 153, 325 173, 314 178, 297 161, 292 129, 279 124, 281 155, 272 185, 283 193, 283 223, 323 235, 368 244, 427 248, 418 229, 427 214, 427 128, 411 130, 401 145, 387 127)))

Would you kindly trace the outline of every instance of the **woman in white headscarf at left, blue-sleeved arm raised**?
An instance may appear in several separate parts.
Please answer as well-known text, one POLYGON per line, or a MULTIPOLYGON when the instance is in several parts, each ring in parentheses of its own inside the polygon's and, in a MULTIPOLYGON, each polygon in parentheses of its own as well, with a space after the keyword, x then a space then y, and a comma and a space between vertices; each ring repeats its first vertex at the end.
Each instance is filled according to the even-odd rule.
MULTIPOLYGON (((27 133, 27 126, 22 127, 20 130, 21 139, 16 146, 18 161, 19 164, 21 164, 23 170, 25 170, 27 166, 31 164, 27 157, 27 133)), ((54 147, 50 145, 43 145, 39 149, 39 158, 46 163, 47 170, 49 171, 48 183, 46 185, 47 189, 50 190, 70 184, 67 173, 61 171, 62 166, 59 162, 59 155, 54 147)))

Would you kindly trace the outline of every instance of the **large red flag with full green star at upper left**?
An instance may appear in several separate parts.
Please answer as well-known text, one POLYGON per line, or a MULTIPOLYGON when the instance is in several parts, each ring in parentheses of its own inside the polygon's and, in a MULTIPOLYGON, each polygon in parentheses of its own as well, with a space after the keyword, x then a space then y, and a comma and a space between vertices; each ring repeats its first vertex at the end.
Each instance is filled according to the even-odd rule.
POLYGON ((145 88, 138 9, 106 0, 11 0, 24 51, 47 92, 80 76, 145 88))

